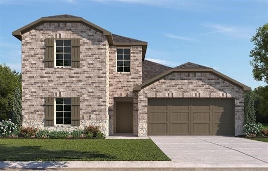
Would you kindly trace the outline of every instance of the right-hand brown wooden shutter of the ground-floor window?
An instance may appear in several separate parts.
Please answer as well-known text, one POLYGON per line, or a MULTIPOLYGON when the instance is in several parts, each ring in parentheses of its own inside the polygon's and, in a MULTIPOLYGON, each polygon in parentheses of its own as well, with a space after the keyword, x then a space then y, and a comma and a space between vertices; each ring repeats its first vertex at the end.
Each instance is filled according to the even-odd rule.
POLYGON ((80 125, 80 97, 71 98, 71 125, 80 125))

